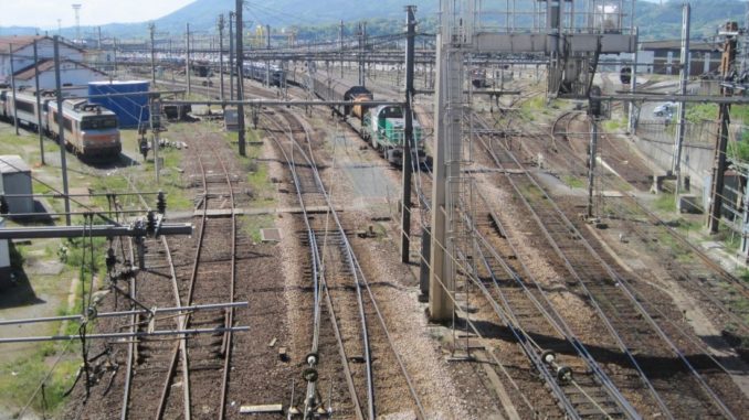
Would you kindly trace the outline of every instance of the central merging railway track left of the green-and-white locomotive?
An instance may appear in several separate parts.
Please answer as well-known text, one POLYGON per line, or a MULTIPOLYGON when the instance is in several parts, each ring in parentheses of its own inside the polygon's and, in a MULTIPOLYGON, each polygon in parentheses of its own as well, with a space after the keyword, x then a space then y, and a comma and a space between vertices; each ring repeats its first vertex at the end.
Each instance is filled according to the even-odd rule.
POLYGON ((403 400, 408 394, 411 407, 397 409, 426 418, 405 366, 393 348, 382 313, 348 239, 349 233, 323 183, 313 140, 291 111, 278 110, 274 117, 284 122, 263 118, 263 123, 266 132, 273 133, 289 169, 291 183, 303 209, 297 220, 298 235, 309 249, 305 272, 312 283, 312 297, 307 298, 312 298, 313 304, 305 304, 305 310, 313 313, 313 323, 306 330, 310 352, 304 363, 305 391, 303 398, 293 397, 292 413, 305 419, 315 412, 374 419, 395 409, 391 401, 403 400), (310 213, 313 207, 320 206, 327 208, 324 214, 310 213), (323 377, 330 380, 327 402, 317 384, 323 377), (339 383, 346 384, 347 392, 338 391, 335 385, 339 383))

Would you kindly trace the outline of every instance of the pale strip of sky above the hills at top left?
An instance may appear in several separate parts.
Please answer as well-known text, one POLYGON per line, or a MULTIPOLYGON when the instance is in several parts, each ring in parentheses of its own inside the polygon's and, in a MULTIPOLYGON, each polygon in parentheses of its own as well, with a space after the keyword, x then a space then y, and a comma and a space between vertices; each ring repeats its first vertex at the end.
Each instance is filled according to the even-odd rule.
POLYGON ((56 29, 75 25, 72 4, 81 4, 81 25, 147 22, 194 0, 0 0, 0 26, 56 29))

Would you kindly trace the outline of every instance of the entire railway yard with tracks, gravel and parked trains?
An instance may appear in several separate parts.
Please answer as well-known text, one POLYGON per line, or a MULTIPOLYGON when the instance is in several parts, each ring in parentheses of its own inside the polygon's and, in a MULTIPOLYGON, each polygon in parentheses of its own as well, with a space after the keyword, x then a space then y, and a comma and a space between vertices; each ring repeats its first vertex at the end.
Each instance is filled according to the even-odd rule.
POLYGON ((223 50, 156 63, 151 39, 115 71, 161 93, 135 128, 0 87, 0 154, 45 213, 2 193, 0 419, 746 418, 747 256, 675 204, 630 104, 600 99, 632 68, 550 95, 551 65, 450 62, 436 40, 415 69, 404 41, 367 65, 281 49, 235 77, 223 50))

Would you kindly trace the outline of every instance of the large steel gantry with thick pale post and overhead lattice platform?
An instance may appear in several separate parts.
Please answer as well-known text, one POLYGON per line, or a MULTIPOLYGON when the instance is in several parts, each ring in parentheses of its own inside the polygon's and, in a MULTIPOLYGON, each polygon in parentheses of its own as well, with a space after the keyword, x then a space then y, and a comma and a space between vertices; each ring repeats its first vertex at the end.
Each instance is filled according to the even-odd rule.
POLYGON ((458 258, 471 260, 466 255, 471 244, 463 239, 470 236, 466 219, 472 215, 473 181, 461 173, 471 149, 463 127, 471 99, 470 88, 464 94, 465 58, 475 54, 541 53, 550 58, 549 95, 588 97, 598 56, 633 53, 636 49, 636 31, 632 19, 625 19, 624 6, 624 0, 509 0, 505 9, 485 12, 481 0, 442 0, 434 95, 432 321, 453 316, 456 262, 458 258))

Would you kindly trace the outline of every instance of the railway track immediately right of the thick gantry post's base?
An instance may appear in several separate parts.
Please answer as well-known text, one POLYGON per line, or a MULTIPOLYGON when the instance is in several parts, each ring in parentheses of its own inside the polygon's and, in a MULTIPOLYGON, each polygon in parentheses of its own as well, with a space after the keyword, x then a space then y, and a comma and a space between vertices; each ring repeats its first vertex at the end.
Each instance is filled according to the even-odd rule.
MULTIPOLYGON (((518 258, 517 248, 488 203, 477 214, 489 215, 474 225, 477 258, 483 266, 479 291, 499 320, 513 332, 556 401, 536 400, 537 416, 579 419, 640 418, 627 398, 595 362, 553 308, 544 286, 518 258)), ((521 364, 521 362, 519 362, 521 364)))

